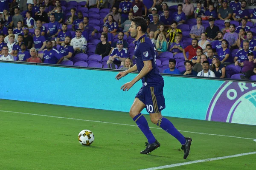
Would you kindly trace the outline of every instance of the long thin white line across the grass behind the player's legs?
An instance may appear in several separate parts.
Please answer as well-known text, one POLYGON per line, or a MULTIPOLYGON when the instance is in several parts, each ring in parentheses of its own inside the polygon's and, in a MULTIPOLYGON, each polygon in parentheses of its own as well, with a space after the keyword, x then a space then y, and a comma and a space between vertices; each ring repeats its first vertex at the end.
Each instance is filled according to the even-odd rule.
MULTIPOLYGON (((33 113, 22 113, 22 112, 1 111, 1 110, 0 110, 0 112, 20 113, 20 114, 28 114, 28 115, 35 115, 35 116, 45 116, 45 117, 53 117, 53 118, 60 118, 60 119, 81 120, 81 121, 87 121, 87 122, 98 122, 98 123, 107 123, 107 124, 114 124, 114 125, 125 125, 125 126, 134 126, 134 127, 137 127, 137 125, 128 125, 128 124, 112 123, 112 122, 102 122, 102 121, 86 120, 86 119, 75 119, 75 118, 58 117, 58 116, 49 116, 49 115, 33 114, 33 113)), ((158 127, 150 127, 150 128, 151 128, 151 129, 162 129, 162 128, 158 128, 158 127)), ((224 136, 224 137, 240 138, 240 139, 251 139, 251 140, 253 140, 254 142, 256 142, 256 139, 253 139, 253 138, 243 138, 243 137, 238 137, 238 136, 218 135, 218 134, 200 133, 200 132, 190 132, 190 131, 184 131, 184 130, 179 130, 179 131, 180 131, 180 132, 187 132, 187 133, 203 134, 203 135, 224 136)))

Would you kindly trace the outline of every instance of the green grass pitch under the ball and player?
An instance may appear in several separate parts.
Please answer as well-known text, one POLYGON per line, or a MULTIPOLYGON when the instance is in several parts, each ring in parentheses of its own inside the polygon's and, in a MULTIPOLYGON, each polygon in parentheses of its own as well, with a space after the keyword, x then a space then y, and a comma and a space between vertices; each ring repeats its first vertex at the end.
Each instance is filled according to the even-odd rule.
MULTIPOLYGON (((161 144, 148 155, 140 154, 147 140, 138 127, 128 126, 136 125, 128 113, 0 99, 0 170, 139 170, 256 151, 256 126, 167 117, 193 139, 184 160, 180 143, 145 117, 161 144), (78 142, 83 129, 94 133, 91 146, 78 142)), ((168 169, 255 170, 256 154, 168 169)))

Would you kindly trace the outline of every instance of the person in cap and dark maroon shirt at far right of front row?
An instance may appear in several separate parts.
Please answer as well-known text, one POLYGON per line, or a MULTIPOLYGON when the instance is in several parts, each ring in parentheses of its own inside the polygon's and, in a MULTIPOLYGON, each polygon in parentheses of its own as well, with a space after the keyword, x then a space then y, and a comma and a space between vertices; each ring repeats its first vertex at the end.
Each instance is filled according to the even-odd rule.
POLYGON ((248 60, 244 60, 244 62, 235 62, 235 65, 239 65, 242 67, 241 73, 244 75, 241 75, 241 79, 249 79, 251 76, 256 74, 256 64, 254 58, 254 54, 252 52, 249 52, 248 54, 248 60))

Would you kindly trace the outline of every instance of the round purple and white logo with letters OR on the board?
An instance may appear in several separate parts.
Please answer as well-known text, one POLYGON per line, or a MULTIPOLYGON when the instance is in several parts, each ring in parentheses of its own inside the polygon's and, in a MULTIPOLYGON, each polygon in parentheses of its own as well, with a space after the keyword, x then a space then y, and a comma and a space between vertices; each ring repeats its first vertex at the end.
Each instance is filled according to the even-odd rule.
POLYGON ((256 83, 224 82, 213 96, 205 119, 256 125, 256 83))

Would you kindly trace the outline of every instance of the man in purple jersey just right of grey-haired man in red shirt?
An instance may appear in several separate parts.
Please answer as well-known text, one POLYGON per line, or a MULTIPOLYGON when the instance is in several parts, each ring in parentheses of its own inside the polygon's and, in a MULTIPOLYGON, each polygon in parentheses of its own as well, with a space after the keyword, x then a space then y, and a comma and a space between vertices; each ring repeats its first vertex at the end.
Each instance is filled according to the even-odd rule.
POLYGON ((44 50, 43 60, 44 63, 56 64, 58 59, 61 58, 61 54, 52 48, 52 42, 48 41, 46 45, 47 50, 44 50))

